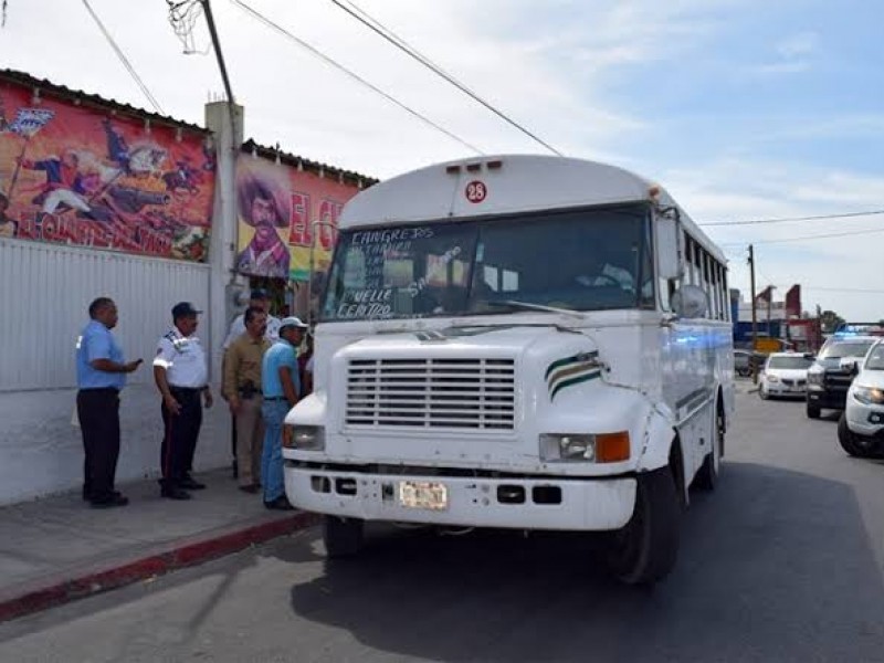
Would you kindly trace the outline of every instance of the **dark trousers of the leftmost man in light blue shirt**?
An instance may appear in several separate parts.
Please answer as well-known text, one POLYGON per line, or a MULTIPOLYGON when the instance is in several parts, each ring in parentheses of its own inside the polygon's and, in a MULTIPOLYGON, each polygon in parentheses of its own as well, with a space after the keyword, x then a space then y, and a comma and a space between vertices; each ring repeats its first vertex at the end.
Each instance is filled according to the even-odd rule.
POLYGON ((83 497, 105 502, 114 494, 119 459, 119 391, 81 389, 76 415, 83 433, 83 497))

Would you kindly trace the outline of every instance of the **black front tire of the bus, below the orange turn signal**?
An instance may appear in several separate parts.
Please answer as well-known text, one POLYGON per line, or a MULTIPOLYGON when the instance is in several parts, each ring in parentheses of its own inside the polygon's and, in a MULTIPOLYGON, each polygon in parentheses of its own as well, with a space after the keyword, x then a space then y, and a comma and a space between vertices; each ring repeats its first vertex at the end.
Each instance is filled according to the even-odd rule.
POLYGON ((629 523, 611 533, 607 561, 627 585, 652 585, 666 577, 678 555, 681 509, 669 466, 636 477, 629 523))

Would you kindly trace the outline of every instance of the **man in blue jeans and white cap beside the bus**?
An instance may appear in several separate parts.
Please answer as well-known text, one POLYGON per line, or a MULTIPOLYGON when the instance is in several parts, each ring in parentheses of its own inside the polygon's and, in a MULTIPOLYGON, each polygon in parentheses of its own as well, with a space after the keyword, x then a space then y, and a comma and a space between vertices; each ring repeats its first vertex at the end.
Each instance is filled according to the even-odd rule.
POLYGON ((261 388, 264 402, 264 449, 261 453, 261 481, 264 484, 264 506, 290 511, 283 480, 283 421, 301 393, 297 370, 297 347, 307 325, 296 317, 283 318, 280 340, 265 354, 261 366, 261 388))

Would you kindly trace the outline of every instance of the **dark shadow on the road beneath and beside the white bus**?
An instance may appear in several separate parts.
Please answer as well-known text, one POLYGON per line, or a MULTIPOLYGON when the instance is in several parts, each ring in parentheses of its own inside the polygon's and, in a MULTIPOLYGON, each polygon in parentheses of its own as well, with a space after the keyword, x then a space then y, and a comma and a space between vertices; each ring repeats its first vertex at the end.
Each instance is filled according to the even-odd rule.
POLYGON ((881 569, 850 486, 729 463, 682 535, 674 573, 641 590, 610 580, 588 537, 381 526, 358 559, 294 585, 292 609, 444 661, 884 659, 881 569))

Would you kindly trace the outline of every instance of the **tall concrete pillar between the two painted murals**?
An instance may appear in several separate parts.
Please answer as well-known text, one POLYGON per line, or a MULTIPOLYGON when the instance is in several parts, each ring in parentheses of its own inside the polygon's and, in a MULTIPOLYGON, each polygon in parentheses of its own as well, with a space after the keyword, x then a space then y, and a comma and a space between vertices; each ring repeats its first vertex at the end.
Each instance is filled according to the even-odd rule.
POLYGON ((233 293, 244 287, 233 271, 238 222, 236 157, 243 141, 243 107, 240 105, 229 102, 211 102, 206 105, 206 126, 213 134, 218 162, 212 238, 209 245, 209 328, 203 327, 202 335, 211 348, 209 370, 215 383, 221 378, 222 345, 230 323, 233 293))

